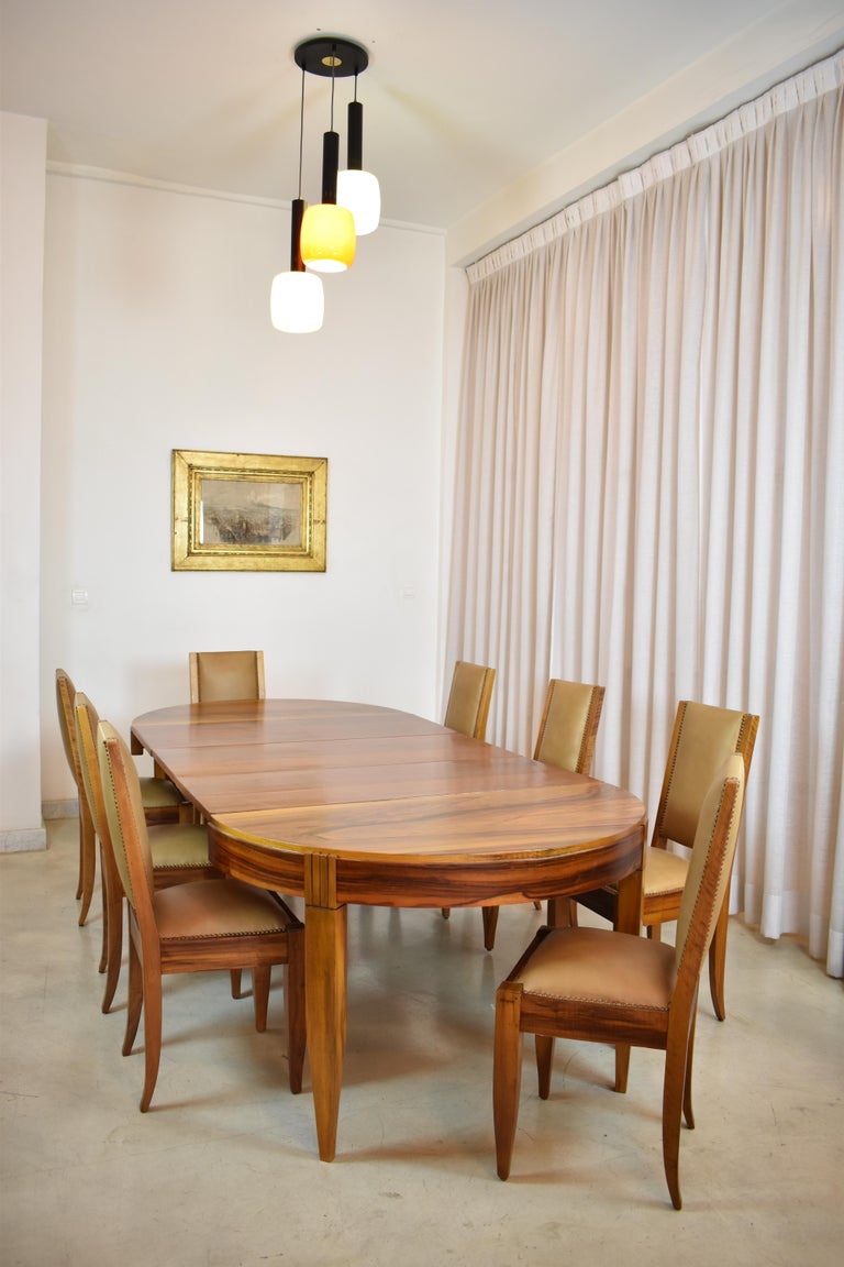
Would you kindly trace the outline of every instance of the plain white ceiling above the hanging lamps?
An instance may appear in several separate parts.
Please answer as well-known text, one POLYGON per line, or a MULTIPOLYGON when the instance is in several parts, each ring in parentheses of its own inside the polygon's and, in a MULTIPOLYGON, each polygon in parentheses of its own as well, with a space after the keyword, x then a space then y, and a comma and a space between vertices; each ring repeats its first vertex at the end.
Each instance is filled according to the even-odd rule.
MULTIPOLYGON (((844 0, 800 4, 844 10, 844 0)), ((297 191, 294 47, 321 32, 348 35, 371 57, 358 96, 364 167, 381 181, 383 217, 447 231, 721 46, 739 35, 764 46, 796 8, 797 0, 0 0, 0 106, 48 119, 52 163, 286 203, 297 191)), ((829 27, 820 35, 831 52, 829 27)), ((352 86, 340 80, 335 89, 340 133, 352 86)), ((310 200, 319 195, 329 110, 330 81, 307 75, 302 193, 310 200)))

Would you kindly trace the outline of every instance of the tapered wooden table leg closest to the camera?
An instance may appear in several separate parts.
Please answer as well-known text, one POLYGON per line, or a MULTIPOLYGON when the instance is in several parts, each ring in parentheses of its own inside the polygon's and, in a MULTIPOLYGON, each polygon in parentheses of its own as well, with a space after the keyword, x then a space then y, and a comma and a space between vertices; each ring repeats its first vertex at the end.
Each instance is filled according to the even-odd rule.
POLYGON ((305 1017, 321 1161, 334 1159, 345 1053, 347 908, 337 903, 337 859, 305 859, 305 1017))

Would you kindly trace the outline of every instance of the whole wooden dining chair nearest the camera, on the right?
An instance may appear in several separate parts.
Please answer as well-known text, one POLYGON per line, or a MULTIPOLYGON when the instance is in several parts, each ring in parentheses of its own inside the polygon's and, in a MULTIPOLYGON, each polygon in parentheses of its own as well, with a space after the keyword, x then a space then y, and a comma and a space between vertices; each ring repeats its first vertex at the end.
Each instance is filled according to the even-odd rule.
POLYGON ((521 1086, 521 1035, 535 1035, 539 1096, 550 1093, 554 1040, 609 1043, 615 1090, 626 1091, 630 1047, 664 1050, 662 1149, 674 1209, 681 1117, 693 1128, 692 1057, 704 958, 729 884, 745 767, 726 759, 701 802, 676 945, 600 927, 539 930, 495 1002, 492 1098, 499 1177, 510 1175, 521 1086))

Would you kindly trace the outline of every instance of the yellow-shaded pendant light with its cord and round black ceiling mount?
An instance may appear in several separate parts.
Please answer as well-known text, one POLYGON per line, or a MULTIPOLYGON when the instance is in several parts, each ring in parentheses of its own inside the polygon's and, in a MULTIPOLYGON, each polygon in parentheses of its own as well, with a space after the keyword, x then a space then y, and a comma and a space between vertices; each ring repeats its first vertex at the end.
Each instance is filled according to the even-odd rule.
POLYGON ((337 201, 340 138, 334 131, 334 81, 364 71, 369 57, 361 44, 326 35, 304 41, 295 58, 302 71, 332 77, 330 128, 323 136, 323 200, 305 210, 301 256, 309 269, 342 272, 354 260, 356 233, 352 212, 337 201))

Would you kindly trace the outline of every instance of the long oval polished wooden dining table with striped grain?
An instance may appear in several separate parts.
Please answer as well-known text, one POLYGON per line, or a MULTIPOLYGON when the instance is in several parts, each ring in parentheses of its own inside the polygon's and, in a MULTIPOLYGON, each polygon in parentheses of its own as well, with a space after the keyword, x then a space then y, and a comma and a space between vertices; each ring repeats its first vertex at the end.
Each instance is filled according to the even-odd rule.
POLYGON ((204 816, 228 874, 305 901, 305 1007, 319 1156, 337 1148, 349 903, 462 907, 619 886, 639 933, 645 811, 600 779, 377 704, 261 699, 137 717, 204 816))

